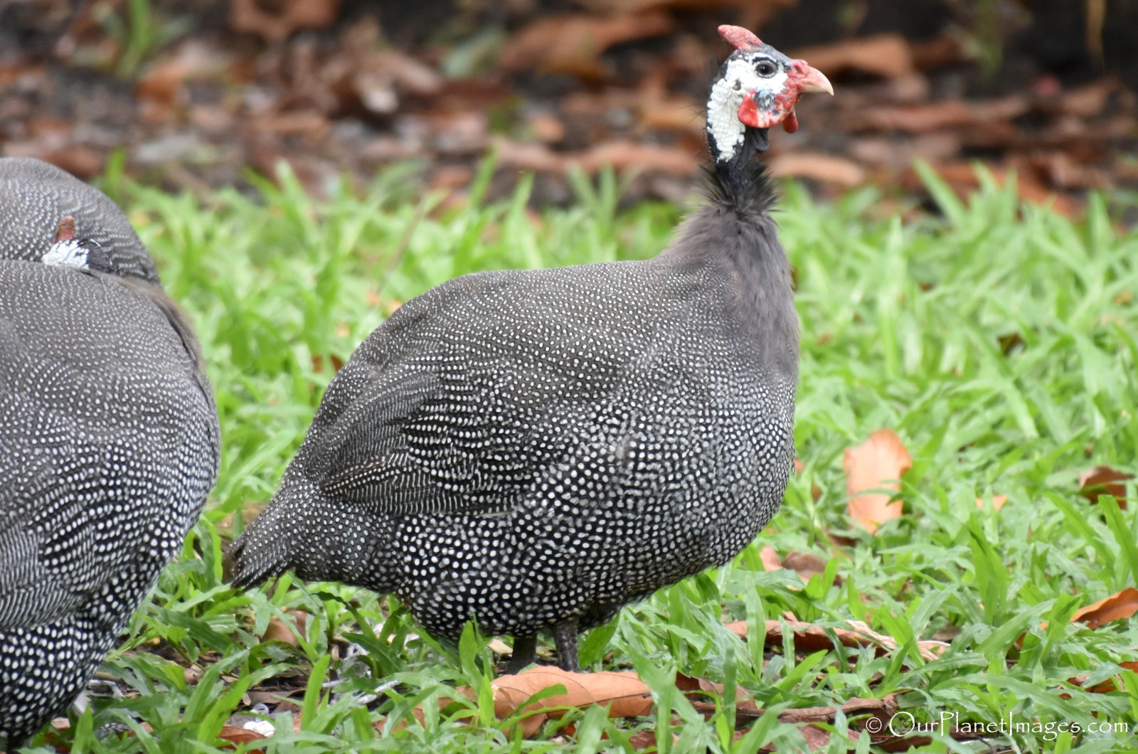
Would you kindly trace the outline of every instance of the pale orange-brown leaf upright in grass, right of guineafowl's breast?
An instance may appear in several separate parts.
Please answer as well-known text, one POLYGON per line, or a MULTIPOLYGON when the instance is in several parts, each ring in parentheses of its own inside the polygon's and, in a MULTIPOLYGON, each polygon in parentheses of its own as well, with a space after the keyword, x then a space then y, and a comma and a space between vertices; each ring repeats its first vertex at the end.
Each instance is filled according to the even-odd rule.
POLYGON ((872 534, 882 523, 900 517, 900 500, 890 502, 888 493, 866 492, 874 489, 900 490, 899 483, 888 480, 900 478, 913 466, 913 458, 896 432, 877 429, 857 448, 847 448, 844 466, 850 518, 872 534))

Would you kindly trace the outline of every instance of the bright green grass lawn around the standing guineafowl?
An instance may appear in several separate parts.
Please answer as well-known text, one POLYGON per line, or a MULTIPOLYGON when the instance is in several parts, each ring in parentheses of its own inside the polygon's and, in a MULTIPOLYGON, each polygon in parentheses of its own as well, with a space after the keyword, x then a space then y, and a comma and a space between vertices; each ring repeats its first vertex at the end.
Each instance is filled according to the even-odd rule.
MULTIPOLYGON (((331 378, 331 356, 346 359, 389 302, 473 270, 651 256, 679 218, 663 205, 618 213, 611 177, 577 180, 578 203, 539 221, 525 208, 527 179, 511 200, 484 205, 484 171, 470 206, 455 207, 414 191, 410 177, 391 172, 363 192, 332 187, 323 202, 288 173, 255 199, 138 187, 119 197, 197 323, 224 448, 208 510, 105 664, 135 694, 97 700, 93 715, 74 721, 61 737, 74 735, 76 751, 215 751, 250 688, 299 689, 299 711, 270 718, 272 738, 242 751, 547 752, 567 741, 628 751, 644 729, 665 746, 678 736, 677 752, 803 746, 775 714, 735 741, 734 698, 704 722, 674 690, 677 672, 745 689, 775 713, 896 692, 917 720, 956 712, 960 722, 1011 714, 1085 729, 1136 724, 1138 675, 1112 694, 1067 679, 1089 675, 1089 687, 1138 659, 1138 621, 1070 623, 1078 607, 1138 579, 1138 506, 1091 506, 1077 490, 1096 464, 1136 467, 1138 236, 1112 227, 1100 197, 1072 223, 1021 206, 1014 187, 992 181, 966 203, 933 181, 943 216, 909 223, 873 219, 872 190, 831 206, 785 187, 778 219, 802 321, 795 440, 805 473, 731 566, 660 591, 584 641, 591 667, 641 673, 657 691, 655 716, 570 712, 525 740, 494 718, 488 638, 439 645, 393 598, 338 584, 284 576, 272 596, 231 592, 221 551, 233 515, 271 497, 331 378), (1011 334, 1022 345, 1005 354, 1000 337, 1011 334), (900 433, 914 468, 900 493, 905 516, 871 536, 846 516, 842 453, 880 427, 900 433), (978 497, 997 493, 1008 495, 1001 510, 976 508, 978 497), (827 532, 855 543, 833 544, 827 532), (831 568, 802 589, 792 572, 764 571, 764 544, 833 558, 831 568), (295 647, 258 639, 294 609, 311 616, 295 647), (901 647, 883 657, 772 653, 761 636, 721 628, 784 610, 823 626, 865 620, 901 647), (922 661, 914 641, 946 626, 959 630, 951 647, 922 661), (368 651, 348 653, 348 642, 368 651), (188 680, 188 664, 199 680, 188 680), (475 700, 448 702, 456 686, 471 687, 475 700), (412 714, 420 705, 421 722, 412 714), (91 731, 110 721, 130 721, 135 735, 97 740, 91 731)), ((828 751, 846 751, 840 738, 828 751)), ((1020 751, 1135 745, 1132 732, 993 738, 1020 751)), ((858 749, 868 751, 867 738, 858 749)), ((984 746, 934 737, 929 749, 984 746)))

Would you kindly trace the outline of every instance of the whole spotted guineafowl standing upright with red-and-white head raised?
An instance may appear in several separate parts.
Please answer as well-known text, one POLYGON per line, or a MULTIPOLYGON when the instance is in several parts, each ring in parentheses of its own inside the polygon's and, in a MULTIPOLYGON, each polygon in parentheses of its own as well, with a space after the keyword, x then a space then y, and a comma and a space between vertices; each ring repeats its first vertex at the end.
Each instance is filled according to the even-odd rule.
POLYGON ((832 91, 737 26, 711 87, 708 206, 645 262, 468 274, 404 304, 332 380, 233 583, 289 568, 394 592, 434 633, 551 631, 729 560, 782 502, 798 319, 754 159, 832 91))

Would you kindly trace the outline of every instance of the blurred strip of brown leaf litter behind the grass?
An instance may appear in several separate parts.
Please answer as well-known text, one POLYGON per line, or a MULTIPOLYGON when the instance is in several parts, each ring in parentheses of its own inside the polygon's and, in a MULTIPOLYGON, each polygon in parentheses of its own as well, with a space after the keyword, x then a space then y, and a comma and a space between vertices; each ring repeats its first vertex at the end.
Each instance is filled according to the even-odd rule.
POLYGON ((914 158, 1065 213, 1138 189, 1138 0, 0 0, 0 154, 193 191, 287 161, 319 195, 405 161, 461 192, 494 151, 492 195, 612 165, 681 200, 723 23, 833 81, 768 153, 823 196, 890 212, 914 158))

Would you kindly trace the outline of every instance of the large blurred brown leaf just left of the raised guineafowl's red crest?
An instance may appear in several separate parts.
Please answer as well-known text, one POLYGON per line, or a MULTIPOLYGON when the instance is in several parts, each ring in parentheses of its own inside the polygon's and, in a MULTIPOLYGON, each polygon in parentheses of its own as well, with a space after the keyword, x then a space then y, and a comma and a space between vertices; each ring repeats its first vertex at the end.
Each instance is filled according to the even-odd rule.
POLYGON ((506 72, 571 73, 601 77, 601 55, 621 42, 667 34, 671 16, 660 11, 609 17, 564 15, 539 18, 514 34, 498 58, 506 72))

